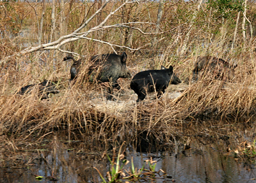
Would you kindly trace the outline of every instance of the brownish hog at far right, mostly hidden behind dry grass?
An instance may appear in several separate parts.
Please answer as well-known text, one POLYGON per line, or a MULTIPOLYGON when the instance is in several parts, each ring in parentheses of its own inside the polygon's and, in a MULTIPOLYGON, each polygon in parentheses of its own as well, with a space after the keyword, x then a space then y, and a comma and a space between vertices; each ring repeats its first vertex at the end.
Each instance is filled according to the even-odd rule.
POLYGON ((223 59, 212 56, 198 56, 193 70, 193 80, 198 80, 198 73, 204 71, 204 75, 207 72, 211 72, 214 78, 221 80, 232 80, 235 77, 234 68, 228 62, 223 59))

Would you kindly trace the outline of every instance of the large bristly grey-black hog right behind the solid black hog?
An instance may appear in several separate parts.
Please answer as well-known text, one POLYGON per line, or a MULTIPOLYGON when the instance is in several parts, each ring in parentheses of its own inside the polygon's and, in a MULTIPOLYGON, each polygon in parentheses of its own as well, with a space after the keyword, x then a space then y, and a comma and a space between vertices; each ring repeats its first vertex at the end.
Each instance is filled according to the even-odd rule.
POLYGON ((126 67, 127 54, 102 54, 94 55, 91 58, 93 62, 89 68, 90 82, 95 79, 99 82, 109 82, 108 99, 113 99, 113 88, 120 89, 118 78, 130 78, 131 72, 126 67))

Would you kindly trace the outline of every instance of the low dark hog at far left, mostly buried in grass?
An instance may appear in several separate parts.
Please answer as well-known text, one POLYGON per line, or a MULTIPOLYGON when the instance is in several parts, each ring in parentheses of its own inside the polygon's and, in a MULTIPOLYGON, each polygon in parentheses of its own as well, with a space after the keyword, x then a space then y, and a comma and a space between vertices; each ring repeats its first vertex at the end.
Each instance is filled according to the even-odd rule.
POLYGON ((50 93, 57 94, 60 92, 56 89, 56 84, 54 84, 54 82, 44 80, 40 84, 31 84, 22 87, 17 94, 28 94, 34 89, 37 89, 36 92, 38 92, 38 97, 40 99, 48 99, 50 93))

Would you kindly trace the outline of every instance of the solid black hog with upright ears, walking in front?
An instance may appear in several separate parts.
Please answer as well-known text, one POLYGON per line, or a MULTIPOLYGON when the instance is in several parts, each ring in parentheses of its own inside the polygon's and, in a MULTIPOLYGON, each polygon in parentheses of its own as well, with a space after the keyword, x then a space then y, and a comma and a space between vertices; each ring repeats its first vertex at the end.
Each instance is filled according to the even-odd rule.
POLYGON ((180 84, 180 79, 173 73, 173 67, 161 70, 148 70, 137 73, 131 81, 131 89, 138 94, 137 102, 142 101, 147 96, 147 92, 157 91, 157 98, 164 93, 164 90, 171 84, 180 84))

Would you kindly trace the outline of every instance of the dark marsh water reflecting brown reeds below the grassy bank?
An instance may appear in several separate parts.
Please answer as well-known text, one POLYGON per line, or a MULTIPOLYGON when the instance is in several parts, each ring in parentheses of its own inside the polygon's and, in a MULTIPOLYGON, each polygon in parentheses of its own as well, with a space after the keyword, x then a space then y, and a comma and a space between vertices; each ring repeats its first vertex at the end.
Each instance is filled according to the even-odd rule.
MULTIPOLYGON (((81 149, 83 143, 63 141, 43 144, 42 149, 24 150, 24 154, 11 158, 6 161, 6 166, 0 168, 0 182, 102 182, 95 168, 107 180, 110 166, 108 158, 102 156, 103 152, 81 149), (56 180, 37 180, 36 175, 44 178, 52 176, 56 180)), ((129 160, 129 163, 124 165, 123 171, 129 172, 132 159, 134 168, 140 169, 145 160, 152 158, 156 161, 155 171, 159 175, 156 179, 144 180, 146 182, 256 182, 255 162, 241 161, 241 157, 234 157, 232 153, 223 150, 226 145, 221 141, 207 145, 193 142, 186 150, 184 147, 175 148, 145 153, 126 147, 124 159, 129 160)), ((3 158, 2 155, 1 161, 3 158)))

